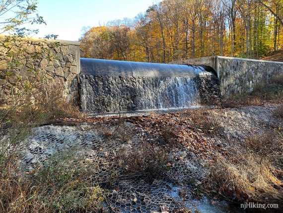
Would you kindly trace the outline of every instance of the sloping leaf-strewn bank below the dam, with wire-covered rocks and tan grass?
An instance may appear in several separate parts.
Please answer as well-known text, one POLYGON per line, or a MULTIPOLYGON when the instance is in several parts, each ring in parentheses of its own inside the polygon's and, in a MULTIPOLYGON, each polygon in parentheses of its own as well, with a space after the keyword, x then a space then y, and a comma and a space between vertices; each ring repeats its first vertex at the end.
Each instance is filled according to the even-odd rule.
POLYGON ((100 209, 110 212, 241 212, 247 202, 282 205, 279 109, 60 119, 33 130, 21 168, 33 173, 62 158, 60 174, 87 168, 83 180, 104 192, 95 195, 100 209), (73 158, 69 168, 65 162, 73 158))

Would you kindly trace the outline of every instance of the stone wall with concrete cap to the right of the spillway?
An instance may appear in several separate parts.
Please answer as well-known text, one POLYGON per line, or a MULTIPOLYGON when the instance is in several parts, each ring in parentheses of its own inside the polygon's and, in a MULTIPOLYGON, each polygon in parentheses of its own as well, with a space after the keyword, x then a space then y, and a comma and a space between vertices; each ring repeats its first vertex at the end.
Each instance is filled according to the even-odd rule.
POLYGON ((212 67, 220 80, 222 96, 251 92, 256 83, 270 81, 283 73, 283 63, 253 59, 212 56, 174 61, 172 64, 193 64, 212 67))

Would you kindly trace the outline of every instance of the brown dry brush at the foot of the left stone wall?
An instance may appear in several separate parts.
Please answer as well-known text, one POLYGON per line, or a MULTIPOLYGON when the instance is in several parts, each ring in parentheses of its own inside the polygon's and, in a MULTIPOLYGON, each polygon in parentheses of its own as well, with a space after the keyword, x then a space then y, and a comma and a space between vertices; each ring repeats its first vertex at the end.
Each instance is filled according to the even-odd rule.
POLYGON ((78 107, 67 103, 60 87, 42 84, 36 90, 25 91, 10 106, 0 106, 0 171, 9 159, 17 155, 32 128, 50 119, 82 117, 78 107))

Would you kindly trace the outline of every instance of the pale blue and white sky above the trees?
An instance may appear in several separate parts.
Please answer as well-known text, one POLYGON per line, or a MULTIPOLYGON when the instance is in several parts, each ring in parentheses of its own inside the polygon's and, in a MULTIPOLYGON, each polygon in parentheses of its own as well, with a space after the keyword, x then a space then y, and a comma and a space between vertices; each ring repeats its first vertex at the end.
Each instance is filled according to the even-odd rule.
POLYGON ((104 25, 108 21, 133 18, 160 0, 38 0, 38 13, 45 24, 36 25, 35 37, 56 34, 58 39, 76 41, 84 26, 104 25))

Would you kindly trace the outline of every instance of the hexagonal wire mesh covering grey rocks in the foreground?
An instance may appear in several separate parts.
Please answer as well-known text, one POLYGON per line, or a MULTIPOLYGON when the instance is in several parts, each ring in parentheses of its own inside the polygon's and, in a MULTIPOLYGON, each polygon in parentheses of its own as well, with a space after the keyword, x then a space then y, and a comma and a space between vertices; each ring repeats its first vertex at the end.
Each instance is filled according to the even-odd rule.
POLYGON ((203 167, 185 147, 166 149, 156 142, 144 141, 144 133, 130 122, 41 126, 24 144, 23 171, 41 167, 53 154, 75 147, 75 153, 94 168, 93 182, 108 192, 104 202, 107 212, 188 212, 195 204, 192 193, 184 191, 190 191, 191 180, 198 180, 207 172, 200 169, 203 167), (160 160, 148 170, 148 163, 154 162, 142 158, 156 148, 158 152, 153 155, 160 155, 164 162, 160 160), (147 165, 141 165, 142 161, 147 165), (151 175, 158 166, 166 168, 151 175), (127 172, 129 169, 132 172, 127 172))

